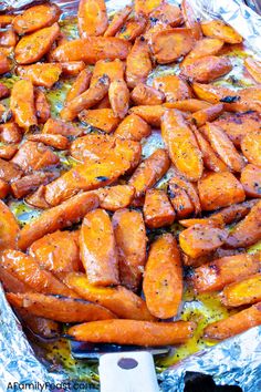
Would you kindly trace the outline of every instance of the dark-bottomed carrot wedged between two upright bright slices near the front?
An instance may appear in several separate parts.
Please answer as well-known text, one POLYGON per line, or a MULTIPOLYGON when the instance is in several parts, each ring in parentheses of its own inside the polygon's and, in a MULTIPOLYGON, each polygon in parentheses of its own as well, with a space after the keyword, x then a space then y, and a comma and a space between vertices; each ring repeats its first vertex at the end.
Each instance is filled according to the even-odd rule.
POLYGON ((121 283, 137 291, 146 261, 146 229, 137 210, 119 209, 113 215, 121 283), (133 229, 129 230, 129 227, 133 229), (136 251, 138 249, 138 252, 136 251))

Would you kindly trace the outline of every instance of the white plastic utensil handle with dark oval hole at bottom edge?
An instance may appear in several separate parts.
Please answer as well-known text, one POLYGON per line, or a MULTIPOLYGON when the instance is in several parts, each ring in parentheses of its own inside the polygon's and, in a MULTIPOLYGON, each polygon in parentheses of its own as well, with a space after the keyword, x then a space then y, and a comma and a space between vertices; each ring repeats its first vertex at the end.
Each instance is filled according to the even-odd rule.
POLYGON ((153 355, 117 352, 100 358, 101 392, 159 392, 153 355))

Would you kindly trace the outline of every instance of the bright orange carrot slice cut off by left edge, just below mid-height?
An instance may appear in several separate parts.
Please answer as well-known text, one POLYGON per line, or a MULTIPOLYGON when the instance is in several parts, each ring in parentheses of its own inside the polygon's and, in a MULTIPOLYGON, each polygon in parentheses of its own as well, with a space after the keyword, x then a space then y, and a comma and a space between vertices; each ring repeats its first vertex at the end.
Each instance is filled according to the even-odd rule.
POLYGON ((17 248, 19 226, 8 206, 0 200, 0 250, 17 248))

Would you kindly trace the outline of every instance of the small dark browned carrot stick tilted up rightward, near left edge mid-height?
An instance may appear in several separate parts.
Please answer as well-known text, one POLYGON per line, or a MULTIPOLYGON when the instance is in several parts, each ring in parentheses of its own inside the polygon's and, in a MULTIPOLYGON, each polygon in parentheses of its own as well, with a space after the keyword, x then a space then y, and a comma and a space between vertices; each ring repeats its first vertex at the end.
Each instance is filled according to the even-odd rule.
POLYGON ((14 197, 22 198, 38 189, 40 185, 50 183, 56 177, 53 172, 35 172, 31 175, 15 179, 11 184, 11 192, 14 197))

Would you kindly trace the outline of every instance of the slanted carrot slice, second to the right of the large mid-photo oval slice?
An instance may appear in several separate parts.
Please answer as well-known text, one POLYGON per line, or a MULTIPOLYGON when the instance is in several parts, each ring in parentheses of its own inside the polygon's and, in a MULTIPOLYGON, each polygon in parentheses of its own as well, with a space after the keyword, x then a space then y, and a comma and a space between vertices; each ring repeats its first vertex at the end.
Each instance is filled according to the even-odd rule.
POLYGON ((233 172, 241 172, 246 166, 242 156, 236 149, 233 143, 229 140, 226 132, 218 125, 207 123, 202 130, 203 135, 208 138, 211 147, 219 157, 233 172))

